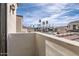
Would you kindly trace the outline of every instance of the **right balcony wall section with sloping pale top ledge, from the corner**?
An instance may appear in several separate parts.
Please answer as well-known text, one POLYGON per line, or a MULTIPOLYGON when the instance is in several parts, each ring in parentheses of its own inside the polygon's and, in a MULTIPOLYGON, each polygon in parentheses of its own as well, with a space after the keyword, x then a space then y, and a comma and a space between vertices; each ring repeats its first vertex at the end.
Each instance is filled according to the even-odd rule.
POLYGON ((37 33, 36 48, 38 55, 45 56, 77 56, 79 42, 55 37, 53 35, 37 33))

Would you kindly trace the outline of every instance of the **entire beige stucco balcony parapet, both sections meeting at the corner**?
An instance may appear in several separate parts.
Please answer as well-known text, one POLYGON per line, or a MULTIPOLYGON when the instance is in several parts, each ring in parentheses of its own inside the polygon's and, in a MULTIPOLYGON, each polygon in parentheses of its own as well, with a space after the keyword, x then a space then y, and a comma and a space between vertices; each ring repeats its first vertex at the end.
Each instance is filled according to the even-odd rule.
POLYGON ((40 32, 10 33, 8 56, 77 56, 79 42, 40 32))

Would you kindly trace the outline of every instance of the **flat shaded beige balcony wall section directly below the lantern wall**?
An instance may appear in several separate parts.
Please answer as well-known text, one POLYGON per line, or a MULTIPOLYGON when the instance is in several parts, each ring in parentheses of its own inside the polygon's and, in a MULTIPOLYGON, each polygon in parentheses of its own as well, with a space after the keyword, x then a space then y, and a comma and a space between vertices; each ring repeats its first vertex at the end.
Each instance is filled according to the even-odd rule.
POLYGON ((7 39, 8 56, 34 56, 34 33, 10 33, 7 39))

